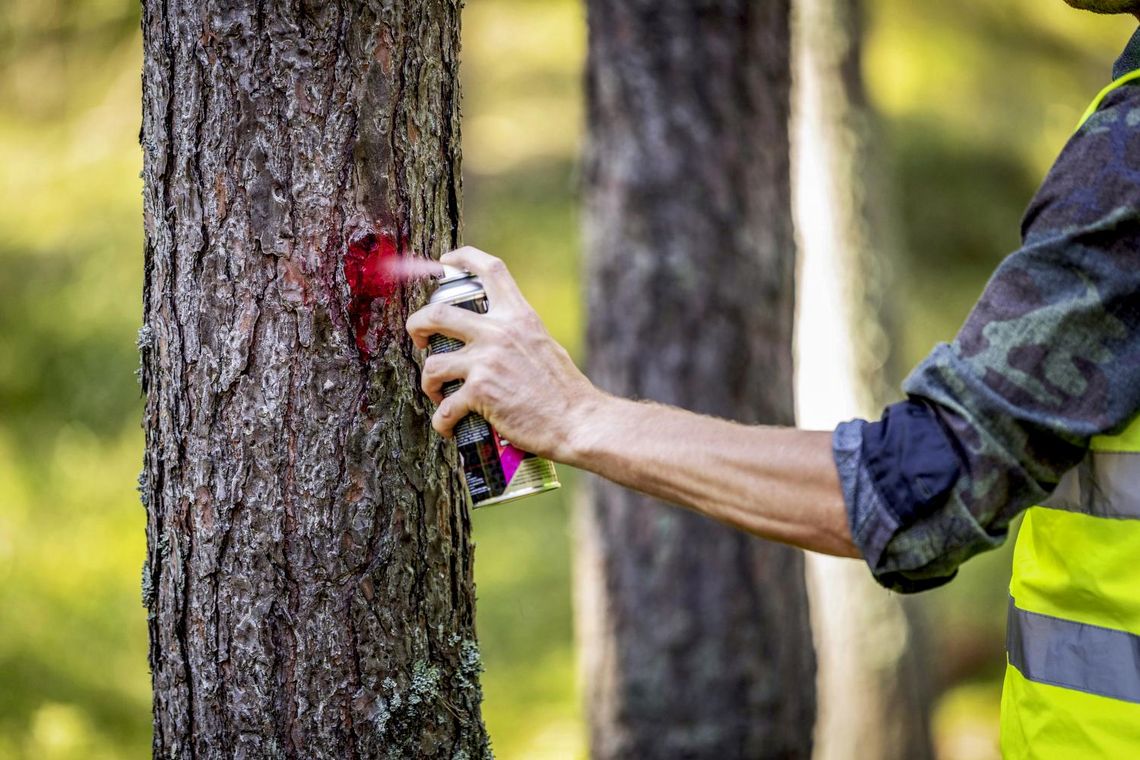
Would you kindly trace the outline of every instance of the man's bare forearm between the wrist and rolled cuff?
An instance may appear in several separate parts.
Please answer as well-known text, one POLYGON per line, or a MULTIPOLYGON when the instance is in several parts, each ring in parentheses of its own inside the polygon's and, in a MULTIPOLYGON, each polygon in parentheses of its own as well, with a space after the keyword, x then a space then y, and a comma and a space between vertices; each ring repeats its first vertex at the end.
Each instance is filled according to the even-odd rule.
POLYGON ((762 538, 857 557, 831 434, 596 394, 555 456, 762 538))

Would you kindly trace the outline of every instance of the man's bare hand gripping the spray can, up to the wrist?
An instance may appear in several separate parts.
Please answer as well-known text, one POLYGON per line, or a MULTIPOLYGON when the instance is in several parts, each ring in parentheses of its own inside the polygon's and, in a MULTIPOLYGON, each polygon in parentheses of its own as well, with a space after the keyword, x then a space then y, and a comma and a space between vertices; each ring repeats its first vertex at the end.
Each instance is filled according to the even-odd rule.
POLYGON ((576 424, 589 416, 602 393, 546 332, 499 259, 465 247, 440 262, 479 277, 490 308, 477 314, 438 303, 408 318, 408 334, 421 349, 435 333, 465 344, 424 361, 423 391, 439 404, 432 426, 450 435, 474 411, 520 449, 564 461, 576 424), (454 379, 462 379, 463 387, 445 399, 443 384, 454 379))

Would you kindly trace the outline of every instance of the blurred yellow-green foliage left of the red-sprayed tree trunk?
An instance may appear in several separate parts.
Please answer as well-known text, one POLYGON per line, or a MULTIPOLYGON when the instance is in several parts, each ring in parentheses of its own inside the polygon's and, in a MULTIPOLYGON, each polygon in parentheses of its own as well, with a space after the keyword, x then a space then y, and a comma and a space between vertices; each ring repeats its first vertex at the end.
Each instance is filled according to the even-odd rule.
POLYGON ((149 747, 138 10, 0 7, 0 757, 149 747))

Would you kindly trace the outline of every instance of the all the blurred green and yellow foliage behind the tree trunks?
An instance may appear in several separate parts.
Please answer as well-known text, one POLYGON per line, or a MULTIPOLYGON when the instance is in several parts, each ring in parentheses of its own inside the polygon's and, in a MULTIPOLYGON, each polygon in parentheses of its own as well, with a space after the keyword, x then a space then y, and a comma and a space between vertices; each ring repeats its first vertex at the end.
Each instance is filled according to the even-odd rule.
MULTIPOLYGON (((1060 0, 866 0, 865 75, 903 240, 898 367, 948 340, 1133 24, 1060 0)), ((470 0, 465 239, 580 357, 585 11, 470 0)), ((141 399, 141 43, 129 0, 0 5, 0 760, 149 753, 141 399)), ((630 294, 629 297, 637 297, 630 294)), ((897 385, 899 378, 894 378, 897 385)), ((585 757, 578 477, 473 517, 484 714, 500 758, 585 757)), ((1008 547, 919 602, 944 760, 995 757, 1008 547)))

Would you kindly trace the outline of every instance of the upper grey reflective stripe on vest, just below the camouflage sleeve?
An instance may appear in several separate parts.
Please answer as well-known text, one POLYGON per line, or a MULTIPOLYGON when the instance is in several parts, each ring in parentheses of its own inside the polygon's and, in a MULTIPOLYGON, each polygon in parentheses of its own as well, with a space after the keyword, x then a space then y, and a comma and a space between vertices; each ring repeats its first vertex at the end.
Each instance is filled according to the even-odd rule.
POLYGON ((1090 452, 1065 473, 1041 506, 1094 517, 1140 520, 1140 453, 1090 452))

